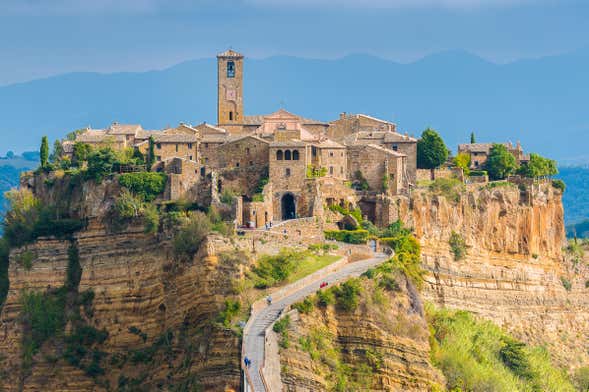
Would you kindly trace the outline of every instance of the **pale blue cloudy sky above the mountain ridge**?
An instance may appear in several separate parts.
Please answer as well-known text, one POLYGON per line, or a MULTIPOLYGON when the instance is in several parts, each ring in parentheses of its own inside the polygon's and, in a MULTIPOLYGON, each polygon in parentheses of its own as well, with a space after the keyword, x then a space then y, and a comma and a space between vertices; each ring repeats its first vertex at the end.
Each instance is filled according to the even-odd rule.
POLYGON ((0 85, 213 57, 505 63, 589 46, 587 0, 0 0, 0 85))

